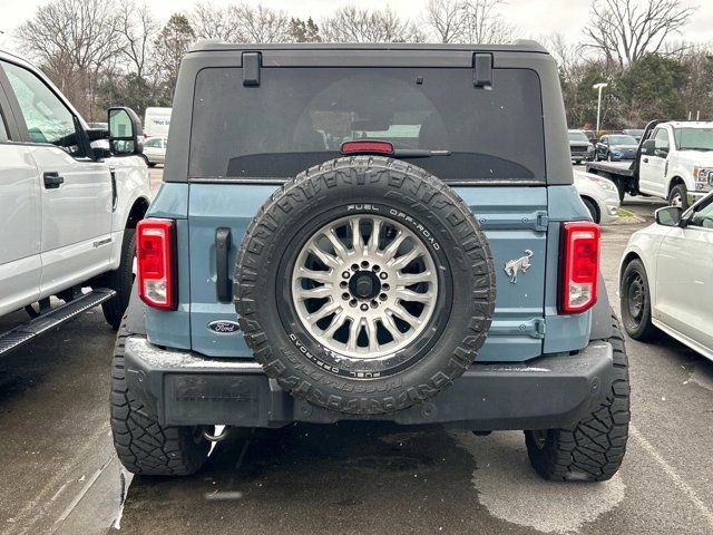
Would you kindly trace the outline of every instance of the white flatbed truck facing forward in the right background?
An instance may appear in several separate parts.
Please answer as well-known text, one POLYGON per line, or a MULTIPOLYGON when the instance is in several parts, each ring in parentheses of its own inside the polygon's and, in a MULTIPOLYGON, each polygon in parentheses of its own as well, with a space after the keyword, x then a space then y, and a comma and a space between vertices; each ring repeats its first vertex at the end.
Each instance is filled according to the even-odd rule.
POLYGON ((654 195, 687 208, 713 188, 713 121, 651 121, 633 163, 587 163, 624 194, 654 195))

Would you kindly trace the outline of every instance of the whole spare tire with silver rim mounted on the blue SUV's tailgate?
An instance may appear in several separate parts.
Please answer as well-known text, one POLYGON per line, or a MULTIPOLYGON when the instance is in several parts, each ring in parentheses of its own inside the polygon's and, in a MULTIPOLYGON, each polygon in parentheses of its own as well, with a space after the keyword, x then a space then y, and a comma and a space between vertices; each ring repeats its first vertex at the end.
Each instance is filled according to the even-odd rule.
POLYGON ((293 396, 350 415, 424 401, 476 358, 495 308, 485 234, 441 181, 383 157, 335 159, 248 226, 234 299, 245 340, 293 396))

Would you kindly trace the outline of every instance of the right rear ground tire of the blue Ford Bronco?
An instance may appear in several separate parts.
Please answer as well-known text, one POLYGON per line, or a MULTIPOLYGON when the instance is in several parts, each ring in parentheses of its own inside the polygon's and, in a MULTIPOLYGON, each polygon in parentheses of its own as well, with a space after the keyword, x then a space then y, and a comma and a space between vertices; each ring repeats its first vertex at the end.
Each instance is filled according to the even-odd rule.
POLYGON ((618 321, 612 314, 614 379, 606 399, 570 429, 525 431, 527 455, 545 479, 606 481, 618 470, 628 439, 628 359, 618 321))

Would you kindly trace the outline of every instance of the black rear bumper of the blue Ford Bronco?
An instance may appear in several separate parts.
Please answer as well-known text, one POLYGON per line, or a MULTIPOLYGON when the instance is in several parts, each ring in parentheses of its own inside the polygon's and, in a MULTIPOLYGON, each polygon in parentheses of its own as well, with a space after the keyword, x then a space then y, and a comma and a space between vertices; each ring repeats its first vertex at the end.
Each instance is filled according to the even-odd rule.
MULTIPOLYGON (((126 341, 125 367, 131 392, 165 426, 279 427, 359 419, 293 398, 253 361, 207 359, 133 337, 126 341)), ((612 346, 603 341, 574 356, 473 364, 428 402, 368 419, 461 422, 477 430, 569 427, 611 392, 612 367, 612 346)))

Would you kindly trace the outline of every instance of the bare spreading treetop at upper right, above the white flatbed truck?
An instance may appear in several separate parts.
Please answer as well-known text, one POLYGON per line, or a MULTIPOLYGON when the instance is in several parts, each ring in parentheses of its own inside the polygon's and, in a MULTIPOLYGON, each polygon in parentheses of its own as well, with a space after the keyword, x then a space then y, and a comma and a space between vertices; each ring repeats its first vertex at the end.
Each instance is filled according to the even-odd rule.
POLYGON ((694 12, 678 0, 595 0, 584 30, 586 45, 624 69, 646 54, 657 52, 694 12))

